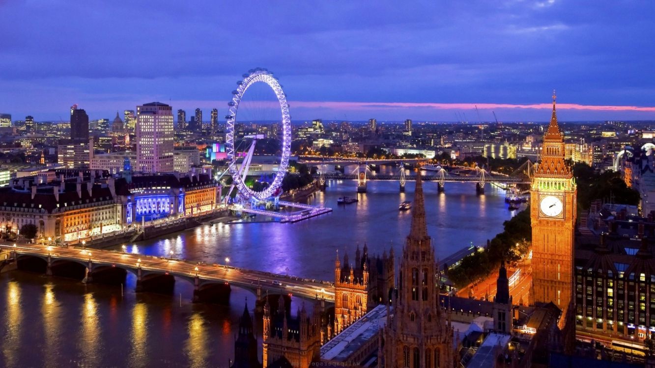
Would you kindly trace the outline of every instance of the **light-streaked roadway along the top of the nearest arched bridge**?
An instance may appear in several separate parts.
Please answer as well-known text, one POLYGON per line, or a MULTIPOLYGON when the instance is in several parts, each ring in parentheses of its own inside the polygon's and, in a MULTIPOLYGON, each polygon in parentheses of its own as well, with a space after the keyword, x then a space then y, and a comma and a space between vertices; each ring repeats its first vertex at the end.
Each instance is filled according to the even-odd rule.
MULTIPOLYGON (((47 258, 67 259, 81 263, 91 262, 97 265, 111 265, 141 272, 154 271, 166 275, 183 278, 198 278, 201 282, 228 282, 237 287, 254 290, 261 286, 263 291, 285 293, 297 297, 313 299, 325 298, 334 301, 334 287, 331 282, 310 280, 295 276, 276 275, 264 271, 255 271, 232 267, 228 264, 207 264, 204 262, 187 261, 183 259, 145 256, 115 250, 98 250, 78 247, 47 246, 45 244, 0 244, 4 250, 12 250, 19 254, 47 258)), ((229 262, 229 261, 228 261, 229 262)))

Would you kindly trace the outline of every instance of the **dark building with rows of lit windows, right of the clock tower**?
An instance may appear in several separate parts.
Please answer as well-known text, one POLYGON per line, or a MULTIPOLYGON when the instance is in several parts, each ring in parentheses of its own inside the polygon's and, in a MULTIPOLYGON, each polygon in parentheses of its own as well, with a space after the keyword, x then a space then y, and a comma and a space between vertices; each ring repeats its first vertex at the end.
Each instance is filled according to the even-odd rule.
POLYGON ((655 224, 627 220, 576 246, 575 301, 579 331, 643 341, 655 338, 655 224), (637 227, 637 237, 624 236, 637 227), (637 240, 637 241, 635 241, 637 240))

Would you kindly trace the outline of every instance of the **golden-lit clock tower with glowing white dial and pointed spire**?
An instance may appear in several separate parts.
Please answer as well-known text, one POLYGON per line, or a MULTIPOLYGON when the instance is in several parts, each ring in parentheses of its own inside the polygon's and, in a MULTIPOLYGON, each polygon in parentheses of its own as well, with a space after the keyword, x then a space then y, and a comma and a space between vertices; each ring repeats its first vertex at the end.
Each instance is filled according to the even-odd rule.
POLYGON ((553 114, 544 135, 541 163, 536 165, 530 188, 533 252, 530 299, 532 304, 555 303, 562 310, 561 328, 574 300, 573 237, 577 210, 576 184, 564 158, 564 138, 557 126, 553 92, 553 114))

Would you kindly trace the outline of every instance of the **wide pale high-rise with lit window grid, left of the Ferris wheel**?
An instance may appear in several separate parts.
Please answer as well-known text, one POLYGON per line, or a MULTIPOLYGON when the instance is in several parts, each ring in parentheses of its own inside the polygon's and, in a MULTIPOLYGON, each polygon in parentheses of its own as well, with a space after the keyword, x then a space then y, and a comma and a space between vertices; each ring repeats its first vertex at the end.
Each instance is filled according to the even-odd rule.
POLYGON ((173 171, 173 111, 160 102, 136 107, 137 170, 146 173, 173 171))

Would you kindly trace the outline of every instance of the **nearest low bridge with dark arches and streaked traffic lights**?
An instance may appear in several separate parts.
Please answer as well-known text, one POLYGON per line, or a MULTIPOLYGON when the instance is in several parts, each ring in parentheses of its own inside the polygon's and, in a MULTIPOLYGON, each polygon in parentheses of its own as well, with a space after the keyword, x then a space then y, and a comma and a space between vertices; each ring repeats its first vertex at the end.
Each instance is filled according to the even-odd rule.
POLYGON ((324 299, 334 302, 332 282, 311 280, 288 275, 277 275, 233 267, 226 263, 207 264, 174 258, 145 256, 116 250, 98 250, 79 247, 48 246, 46 244, 0 244, 0 252, 9 252, 1 262, 32 263, 45 269, 47 275, 61 275, 77 269, 83 282, 121 280, 128 272, 136 275, 136 291, 161 290, 175 280, 184 280, 194 286, 193 301, 213 301, 229 295, 231 286, 249 290, 263 303, 265 293, 324 299))

